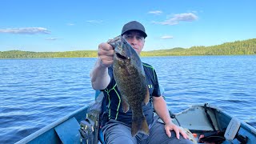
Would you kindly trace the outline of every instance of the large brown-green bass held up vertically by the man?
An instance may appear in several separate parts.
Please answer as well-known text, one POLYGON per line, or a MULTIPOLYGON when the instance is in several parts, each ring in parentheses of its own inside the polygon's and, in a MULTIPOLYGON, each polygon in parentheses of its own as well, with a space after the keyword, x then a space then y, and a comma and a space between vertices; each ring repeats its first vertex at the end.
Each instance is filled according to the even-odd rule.
POLYGON ((142 61, 122 36, 108 43, 114 48, 114 79, 121 94, 122 110, 124 113, 130 109, 132 111, 131 134, 133 137, 138 132, 149 135, 149 127, 142 106, 149 102, 150 93, 142 61))

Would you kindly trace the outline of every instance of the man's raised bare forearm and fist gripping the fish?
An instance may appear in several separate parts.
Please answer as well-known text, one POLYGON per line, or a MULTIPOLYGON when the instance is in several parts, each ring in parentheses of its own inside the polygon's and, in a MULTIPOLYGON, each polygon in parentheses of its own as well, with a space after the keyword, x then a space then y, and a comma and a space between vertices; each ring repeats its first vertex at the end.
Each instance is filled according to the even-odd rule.
POLYGON ((90 81, 94 90, 104 90, 110 83, 108 67, 112 65, 114 57, 113 47, 103 42, 98 46, 98 60, 90 71, 90 81))

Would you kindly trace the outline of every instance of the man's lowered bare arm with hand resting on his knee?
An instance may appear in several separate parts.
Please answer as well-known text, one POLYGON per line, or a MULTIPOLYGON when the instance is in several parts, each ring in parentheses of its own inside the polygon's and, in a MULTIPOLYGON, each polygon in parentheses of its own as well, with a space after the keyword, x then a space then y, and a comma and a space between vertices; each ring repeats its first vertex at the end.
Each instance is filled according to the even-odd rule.
POLYGON ((170 131, 174 130, 176 133, 176 137, 179 139, 179 133, 182 134, 183 138, 188 138, 187 134, 181 130, 178 126, 176 126, 170 118, 169 110, 166 106, 166 101, 160 97, 154 97, 153 96, 153 105, 154 110, 158 114, 158 116, 162 119, 162 121, 165 123, 165 130, 168 137, 171 136, 170 131))

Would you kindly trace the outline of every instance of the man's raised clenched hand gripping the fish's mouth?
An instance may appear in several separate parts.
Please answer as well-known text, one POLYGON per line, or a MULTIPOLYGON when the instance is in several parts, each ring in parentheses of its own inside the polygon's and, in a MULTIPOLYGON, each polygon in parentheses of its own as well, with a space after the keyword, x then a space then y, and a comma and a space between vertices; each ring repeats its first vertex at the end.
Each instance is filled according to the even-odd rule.
POLYGON ((106 42, 98 45, 98 58, 102 67, 109 67, 113 64, 114 48, 106 42))

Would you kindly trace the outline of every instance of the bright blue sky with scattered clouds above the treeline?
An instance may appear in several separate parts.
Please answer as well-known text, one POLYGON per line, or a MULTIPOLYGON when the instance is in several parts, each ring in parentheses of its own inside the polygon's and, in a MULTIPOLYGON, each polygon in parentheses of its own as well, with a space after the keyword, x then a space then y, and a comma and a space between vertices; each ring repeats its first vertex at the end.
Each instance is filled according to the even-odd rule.
POLYGON ((98 50, 126 22, 146 27, 144 50, 256 38, 254 0, 1 0, 0 51, 98 50))

